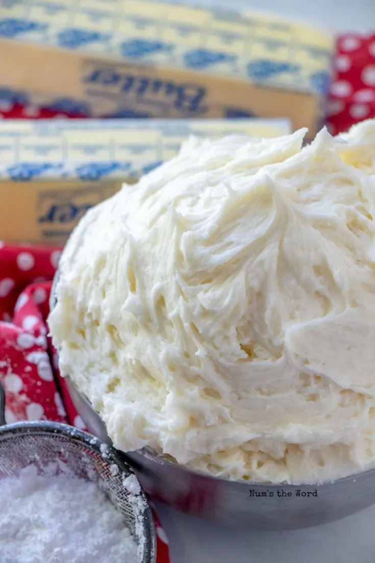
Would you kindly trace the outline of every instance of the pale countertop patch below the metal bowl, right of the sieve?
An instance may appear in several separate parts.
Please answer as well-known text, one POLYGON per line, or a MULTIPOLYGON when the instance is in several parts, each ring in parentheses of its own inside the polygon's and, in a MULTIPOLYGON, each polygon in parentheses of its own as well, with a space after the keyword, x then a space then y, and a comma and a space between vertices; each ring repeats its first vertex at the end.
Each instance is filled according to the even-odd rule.
POLYGON ((374 563, 375 506, 306 530, 229 530, 157 504, 171 563, 374 563))

